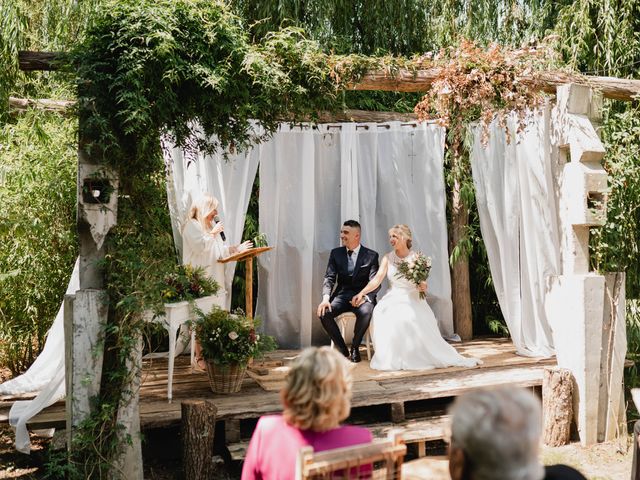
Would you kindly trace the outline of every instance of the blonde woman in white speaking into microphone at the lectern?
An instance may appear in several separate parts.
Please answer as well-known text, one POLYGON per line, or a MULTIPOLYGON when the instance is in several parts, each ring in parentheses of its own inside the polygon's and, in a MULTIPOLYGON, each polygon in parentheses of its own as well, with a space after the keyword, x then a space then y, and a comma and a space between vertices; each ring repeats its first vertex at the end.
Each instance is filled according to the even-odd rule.
MULTIPOLYGON (((223 238, 224 225, 214 220, 218 215, 218 205, 218 199, 209 194, 203 194, 191 203, 187 218, 182 225, 182 263, 192 267, 202 267, 207 276, 220 285, 215 304, 227 308, 225 266, 218 260, 251 248, 253 244, 247 241, 239 245, 227 246, 223 238)), ((197 342, 195 356, 197 364, 194 368, 204 371, 202 349, 197 342)))

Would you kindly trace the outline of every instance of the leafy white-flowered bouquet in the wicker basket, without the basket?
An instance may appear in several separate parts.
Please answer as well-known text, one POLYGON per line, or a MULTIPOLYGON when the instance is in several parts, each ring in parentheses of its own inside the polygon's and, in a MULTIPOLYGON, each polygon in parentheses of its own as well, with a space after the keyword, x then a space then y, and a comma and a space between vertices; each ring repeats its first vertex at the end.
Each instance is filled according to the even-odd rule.
POLYGON ((259 358, 276 348, 273 337, 256 332, 259 320, 247 317, 242 310, 230 313, 214 306, 207 314, 198 312, 194 323, 207 362, 246 365, 250 358, 259 358))

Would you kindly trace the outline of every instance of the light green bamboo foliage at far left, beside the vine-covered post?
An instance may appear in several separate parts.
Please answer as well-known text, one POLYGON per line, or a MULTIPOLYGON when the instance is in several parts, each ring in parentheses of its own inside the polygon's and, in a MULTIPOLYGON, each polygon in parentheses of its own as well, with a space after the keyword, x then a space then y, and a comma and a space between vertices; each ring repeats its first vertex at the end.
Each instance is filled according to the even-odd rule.
POLYGON ((0 128, 0 365, 40 352, 76 256, 76 124, 28 112, 0 128))

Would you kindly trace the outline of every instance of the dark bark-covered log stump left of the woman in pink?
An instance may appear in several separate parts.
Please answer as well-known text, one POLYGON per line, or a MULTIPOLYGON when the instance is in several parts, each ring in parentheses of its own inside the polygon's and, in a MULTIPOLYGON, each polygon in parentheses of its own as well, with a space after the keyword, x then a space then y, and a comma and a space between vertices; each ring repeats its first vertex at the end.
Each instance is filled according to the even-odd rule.
POLYGON ((181 407, 182 463, 185 480, 218 478, 218 465, 213 457, 218 409, 211 400, 185 400, 181 407))

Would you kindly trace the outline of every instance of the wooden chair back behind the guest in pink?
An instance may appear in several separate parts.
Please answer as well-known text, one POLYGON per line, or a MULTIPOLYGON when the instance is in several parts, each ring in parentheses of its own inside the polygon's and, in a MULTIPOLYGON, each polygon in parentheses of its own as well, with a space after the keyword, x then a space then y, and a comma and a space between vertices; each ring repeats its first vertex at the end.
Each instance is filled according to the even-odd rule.
POLYGON ((407 446, 402 435, 391 431, 387 440, 314 453, 298 453, 296 480, 401 479, 407 446))

